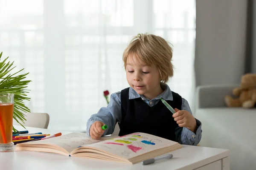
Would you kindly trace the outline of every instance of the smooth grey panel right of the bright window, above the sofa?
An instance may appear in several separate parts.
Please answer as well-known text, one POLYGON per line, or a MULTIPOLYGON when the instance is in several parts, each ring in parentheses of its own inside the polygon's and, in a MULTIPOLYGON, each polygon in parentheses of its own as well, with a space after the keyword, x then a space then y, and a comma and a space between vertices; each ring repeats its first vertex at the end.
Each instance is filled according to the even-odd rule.
POLYGON ((240 82, 246 7, 245 0, 196 1, 196 86, 240 82))

